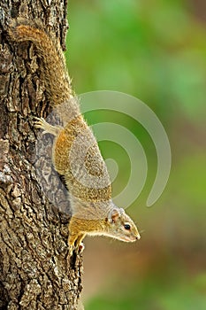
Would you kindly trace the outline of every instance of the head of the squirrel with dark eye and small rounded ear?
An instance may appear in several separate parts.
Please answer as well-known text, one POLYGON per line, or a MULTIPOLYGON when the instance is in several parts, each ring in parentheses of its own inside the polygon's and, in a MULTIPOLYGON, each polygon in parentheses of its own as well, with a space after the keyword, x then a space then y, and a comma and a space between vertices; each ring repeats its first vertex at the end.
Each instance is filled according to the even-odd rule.
POLYGON ((134 242, 141 238, 134 221, 125 213, 125 210, 113 207, 108 214, 107 235, 124 242, 134 242))

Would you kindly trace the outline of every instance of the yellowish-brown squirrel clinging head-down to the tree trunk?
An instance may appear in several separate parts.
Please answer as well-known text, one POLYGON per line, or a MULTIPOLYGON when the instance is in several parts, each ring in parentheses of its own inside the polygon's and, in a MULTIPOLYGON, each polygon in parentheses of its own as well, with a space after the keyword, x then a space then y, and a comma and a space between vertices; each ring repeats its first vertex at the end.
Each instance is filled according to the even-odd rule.
POLYGON ((55 136, 53 164, 65 178, 72 205, 70 254, 74 248, 82 248, 86 235, 111 236, 125 242, 140 239, 134 221, 112 202, 110 177, 95 136, 80 114, 60 44, 42 27, 18 19, 11 22, 9 35, 14 42, 34 43, 47 97, 63 121, 63 128, 51 126, 42 118, 34 126, 55 136))

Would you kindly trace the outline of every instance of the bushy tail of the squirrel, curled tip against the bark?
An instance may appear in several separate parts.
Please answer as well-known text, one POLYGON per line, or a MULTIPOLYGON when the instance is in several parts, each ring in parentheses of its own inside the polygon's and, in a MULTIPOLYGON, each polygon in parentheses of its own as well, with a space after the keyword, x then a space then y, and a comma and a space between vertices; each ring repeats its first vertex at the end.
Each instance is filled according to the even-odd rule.
POLYGON ((60 105, 72 97, 64 54, 59 43, 55 43, 39 25, 30 23, 27 20, 12 20, 9 35, 14 42, 34 43, 37 55, 42 59, 42 75, 50 103, 52 106, 60 105))

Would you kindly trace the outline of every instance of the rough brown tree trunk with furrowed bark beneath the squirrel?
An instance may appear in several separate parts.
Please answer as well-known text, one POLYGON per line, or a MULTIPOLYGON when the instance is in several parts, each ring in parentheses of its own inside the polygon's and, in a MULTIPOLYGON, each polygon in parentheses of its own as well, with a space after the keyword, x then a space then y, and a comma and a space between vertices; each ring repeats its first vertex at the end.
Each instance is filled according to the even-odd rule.
MULTIPOLYGON (((80 296, 81 257, 70 259, 67 247, 68 198, 41 151, 35 155, 34 116, 50 112, 38 58, 32 43, 11 43, 5 31, 9 18, 41 19, 65 49, 66 11, 66 0, 0 3, 0 309, 71 310, 80 296)), ((51 154, 51 137, 41 143, 51 154)))

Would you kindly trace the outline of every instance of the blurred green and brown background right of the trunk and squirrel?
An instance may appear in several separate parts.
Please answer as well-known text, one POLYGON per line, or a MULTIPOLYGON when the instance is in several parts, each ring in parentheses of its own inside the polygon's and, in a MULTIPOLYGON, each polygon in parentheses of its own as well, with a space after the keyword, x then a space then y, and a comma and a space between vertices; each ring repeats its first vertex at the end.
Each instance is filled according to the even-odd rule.
MULTIPOLYGON (((86 114, 91 125, 114 121, 134 132, 149 161, 146 186, 127 209, 143 230, 141 241, 85 240, 86 310, 206 309, 206 2, 70 0, 68 16, 66 58, 76 93, 139 97, 162 121, 172 148, 169 182, 148 208, 156 175, 149 135, 123 115, 86 114)), ((118 161, 118 192, 128 178, 126 154, 114 143, 100 147, 118 161)))

